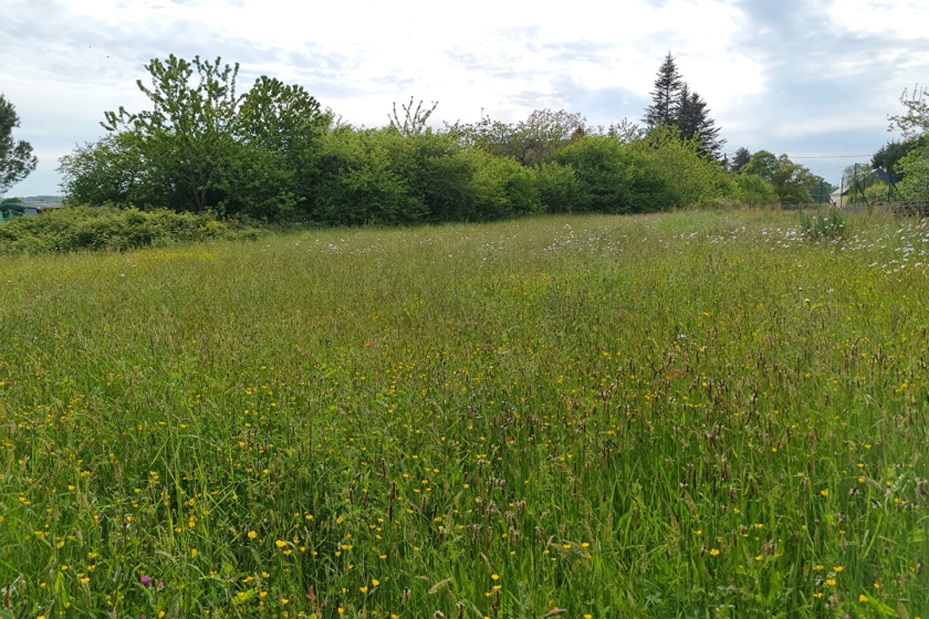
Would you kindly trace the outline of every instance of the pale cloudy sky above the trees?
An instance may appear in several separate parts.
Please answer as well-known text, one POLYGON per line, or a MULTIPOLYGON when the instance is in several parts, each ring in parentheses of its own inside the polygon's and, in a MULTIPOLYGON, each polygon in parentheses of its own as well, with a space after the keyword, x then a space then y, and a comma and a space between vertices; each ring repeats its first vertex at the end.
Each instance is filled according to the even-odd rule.
POLYGON ((893 137, 902 90, 929 85, 925 0, 0 0, 0 92, 40 159, 20 196, 58 193, 58 158, 104 133, 104 111, 144 108, 135 82, 169 53, 380 126, 410 96, 439 102, 436 125, 543 107, 639 119, 670 51, 728 151, 786 153, 836 183, 893 137), (815 158, 836 155, 853 157, 815 158))

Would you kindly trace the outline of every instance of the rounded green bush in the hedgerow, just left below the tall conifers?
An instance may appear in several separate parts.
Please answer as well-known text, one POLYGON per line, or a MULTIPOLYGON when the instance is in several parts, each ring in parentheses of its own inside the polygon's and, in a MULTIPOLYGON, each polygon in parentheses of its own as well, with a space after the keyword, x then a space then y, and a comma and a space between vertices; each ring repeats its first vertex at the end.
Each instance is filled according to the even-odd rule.
POLYGON ((587 136, 555 155, 574 169, 577 210, 651 212, 681 204, 681 196, 641 153, 606 136, 587 136))

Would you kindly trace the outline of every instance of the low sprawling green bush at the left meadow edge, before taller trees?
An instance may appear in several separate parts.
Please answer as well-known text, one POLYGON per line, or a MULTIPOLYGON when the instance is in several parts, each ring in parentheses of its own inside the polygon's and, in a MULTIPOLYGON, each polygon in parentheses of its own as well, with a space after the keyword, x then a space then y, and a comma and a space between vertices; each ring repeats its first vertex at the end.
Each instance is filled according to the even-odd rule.
POLYGON ((0 254, 126 251, 148 245, 254 239, 258 231, 212 213, 144 212, 135 208, 69 207, 0 225, 0 254))

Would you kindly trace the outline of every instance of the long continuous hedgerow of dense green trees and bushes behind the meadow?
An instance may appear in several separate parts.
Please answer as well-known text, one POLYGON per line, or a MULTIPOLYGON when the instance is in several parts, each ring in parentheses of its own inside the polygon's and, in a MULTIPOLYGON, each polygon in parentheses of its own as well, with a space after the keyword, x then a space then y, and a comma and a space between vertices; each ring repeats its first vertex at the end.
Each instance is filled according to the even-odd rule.
POLYGON ((405 118, 395 108, 387 127, 366 129, 273 78, 239 93, 238 65, 219 59, 171 55, 147 70, 150 85, 138 86, 150 109, 106 113, 107 135, 61 159, 70 202, 355 225, 645 212, 738 196, 706 136, 683 126, 604 130, 541 109, 432 129, 435 104, 410 101, 405 118))

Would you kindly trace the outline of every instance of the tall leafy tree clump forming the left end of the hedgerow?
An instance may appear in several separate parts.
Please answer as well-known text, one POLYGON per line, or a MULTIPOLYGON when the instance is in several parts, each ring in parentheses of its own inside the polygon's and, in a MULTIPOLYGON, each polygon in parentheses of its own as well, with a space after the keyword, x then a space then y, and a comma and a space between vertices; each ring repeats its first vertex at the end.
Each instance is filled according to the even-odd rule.
POLYGON ((314 145, 332 114, 301 86, 259 77, 237 92, 238 65, 168 56, 139 90, 152 108, 107 112, 108 135, 61 159, 72 201, 152 202, 289 217, 307 197, 314 145))

